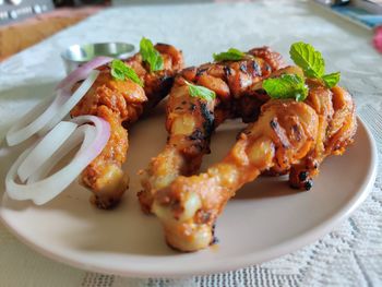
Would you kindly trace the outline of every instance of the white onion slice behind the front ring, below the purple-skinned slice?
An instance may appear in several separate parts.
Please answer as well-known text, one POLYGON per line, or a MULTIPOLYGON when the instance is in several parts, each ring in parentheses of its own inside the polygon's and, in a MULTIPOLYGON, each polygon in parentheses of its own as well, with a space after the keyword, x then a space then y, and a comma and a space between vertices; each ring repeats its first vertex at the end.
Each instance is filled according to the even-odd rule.
POLYGON ((43 129, 44 133, 48 132, 81 100, 96 81, 98 74, 99 71, 92 71, 72 96, 68 94, 68 91, 59 89, 50 106, 48 106, 49 100, 46 99, 31 112, 26 113, 7 132, 8 144, 10 146, 16 145, 40 132, 43 129), (43 113, 38 112, 44 110, 44 108, 46 109, 43 113))

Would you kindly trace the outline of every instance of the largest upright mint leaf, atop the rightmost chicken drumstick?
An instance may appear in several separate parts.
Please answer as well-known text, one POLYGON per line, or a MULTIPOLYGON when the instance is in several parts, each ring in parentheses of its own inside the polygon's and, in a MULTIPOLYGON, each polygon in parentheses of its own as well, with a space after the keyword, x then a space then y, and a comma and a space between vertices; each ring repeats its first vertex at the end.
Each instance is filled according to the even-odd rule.
POLYGON ((293 44, 289 55, 308 77, 320 79, 325 73, 325 61, 321 52, 317 51, 310 44, 302 41, 293 44))

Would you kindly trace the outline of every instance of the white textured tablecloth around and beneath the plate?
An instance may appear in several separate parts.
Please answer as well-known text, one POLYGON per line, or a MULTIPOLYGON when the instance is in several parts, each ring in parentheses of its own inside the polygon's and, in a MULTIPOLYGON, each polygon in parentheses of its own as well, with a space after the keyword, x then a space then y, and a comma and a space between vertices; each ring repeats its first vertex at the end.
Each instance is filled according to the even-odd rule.
MULTIPOLYGON (((326 15, 305 1, 254 1, 107 9, 0 63, 1 95, 17 85, 57 82, 64 75, 59 51, 75 43, 129 41, 142 35, 181 47, 199 64, 229 47, 268 45, 287 56, 297 40, 321 50, 329 71, 355 96, 382 152, 382 57, 371 34, 326 15), (200 57, 196 57, 199 55, 200 57)), ((3 135, 0 135, 0 137, 3 135)), ((183 279, 122 278, 50 261, 0 225, 1 286, 381 286, 381 165, 372 193, 330 235, 277 260, 243 270, 183 279)))

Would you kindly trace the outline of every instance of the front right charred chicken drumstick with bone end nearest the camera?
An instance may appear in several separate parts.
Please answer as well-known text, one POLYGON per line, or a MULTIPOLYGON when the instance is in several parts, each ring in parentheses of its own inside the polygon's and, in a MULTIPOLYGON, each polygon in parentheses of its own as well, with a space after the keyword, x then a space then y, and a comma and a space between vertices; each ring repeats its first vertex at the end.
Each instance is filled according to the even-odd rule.
POLYGON ((289 172, 293 187, 309 190, 322 160, 345 152, 357 129, 351 96, 319 80, 306 84, 305 101, 264 104, 258 120, 239 134, 220 163, 198 176, 177 177, 156 192, 152 210, 171 247, 196 251, 210 246, 216 218, 228 200, 262 172, 289 172))

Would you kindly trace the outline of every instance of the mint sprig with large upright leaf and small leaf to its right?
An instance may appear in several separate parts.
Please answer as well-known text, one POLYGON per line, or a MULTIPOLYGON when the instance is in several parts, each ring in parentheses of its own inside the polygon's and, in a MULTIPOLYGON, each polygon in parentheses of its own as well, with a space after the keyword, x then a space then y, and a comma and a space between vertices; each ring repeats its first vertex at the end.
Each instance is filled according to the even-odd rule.
POLYGON ((290 58, 303 70, 308 77, 322 80, 329 88, 335 86, 341 77, 341 73, 325 74, 325 61, 320 51, 317 51, 310 44, 303 41, 295 43, 290 46, 290 58))

